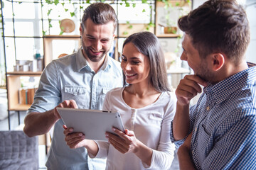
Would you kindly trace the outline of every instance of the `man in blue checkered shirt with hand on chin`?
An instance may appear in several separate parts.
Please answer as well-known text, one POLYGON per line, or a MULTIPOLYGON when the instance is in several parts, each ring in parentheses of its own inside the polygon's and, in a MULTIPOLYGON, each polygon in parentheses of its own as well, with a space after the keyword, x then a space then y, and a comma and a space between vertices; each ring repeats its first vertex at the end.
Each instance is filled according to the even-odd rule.
POLYGON ((256 67, 245 62, 250 28, 236 1, 210 0, 178 20, 181 60, 171 141, 180 169, 256 169, 256 67), (189 108, 191 98, 203 94, 189 108))

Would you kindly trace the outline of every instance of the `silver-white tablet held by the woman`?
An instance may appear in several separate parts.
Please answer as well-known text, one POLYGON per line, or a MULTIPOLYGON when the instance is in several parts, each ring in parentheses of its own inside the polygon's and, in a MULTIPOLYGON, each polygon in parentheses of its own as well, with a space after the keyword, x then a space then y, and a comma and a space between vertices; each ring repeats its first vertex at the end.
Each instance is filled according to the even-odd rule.
POLYGON ((107 141, 105 132, 115 127, 124 132, 121 116, 117 111, 97 111, 78 108, 57 108, 60 117, 73 132, 82 132, 85 139, 107 141))

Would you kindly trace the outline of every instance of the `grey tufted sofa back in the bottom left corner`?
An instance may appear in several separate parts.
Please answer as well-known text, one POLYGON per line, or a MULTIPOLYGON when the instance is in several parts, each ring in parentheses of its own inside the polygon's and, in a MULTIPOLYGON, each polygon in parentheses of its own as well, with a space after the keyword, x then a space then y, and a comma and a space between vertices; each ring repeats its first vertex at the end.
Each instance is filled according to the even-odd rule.
POLYGON ((0 169, 38 169, 38 137, 22 130, 0 131, 0 169))

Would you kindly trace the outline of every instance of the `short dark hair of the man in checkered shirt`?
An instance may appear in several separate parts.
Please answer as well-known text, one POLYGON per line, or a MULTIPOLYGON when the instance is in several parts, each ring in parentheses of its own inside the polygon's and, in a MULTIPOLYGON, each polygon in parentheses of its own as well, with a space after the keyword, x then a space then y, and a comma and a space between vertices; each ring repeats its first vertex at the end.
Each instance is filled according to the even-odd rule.
POLYGON ((236 1, 210 0, 178 20, 201 57, 223 52, 238 64, 250 42, 247 15, 236 1))

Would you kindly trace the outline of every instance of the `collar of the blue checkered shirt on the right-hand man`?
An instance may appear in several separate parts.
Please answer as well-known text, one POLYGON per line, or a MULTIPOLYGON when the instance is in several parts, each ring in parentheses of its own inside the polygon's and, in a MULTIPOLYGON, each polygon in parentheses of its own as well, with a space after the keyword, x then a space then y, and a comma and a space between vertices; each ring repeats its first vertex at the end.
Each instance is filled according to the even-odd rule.
POLYGON ((234 91, 242 89, 242 87, 247 86, 255 81, 256 77, 256 67, 250 67, 243 70, 237 74, 234 74, 228 79, 218 82, 218 84, 208 84, 203 88, 203 92, 206 94, 211 94, 214 97, 215 103, 221 103, 226 100, 234 91))

